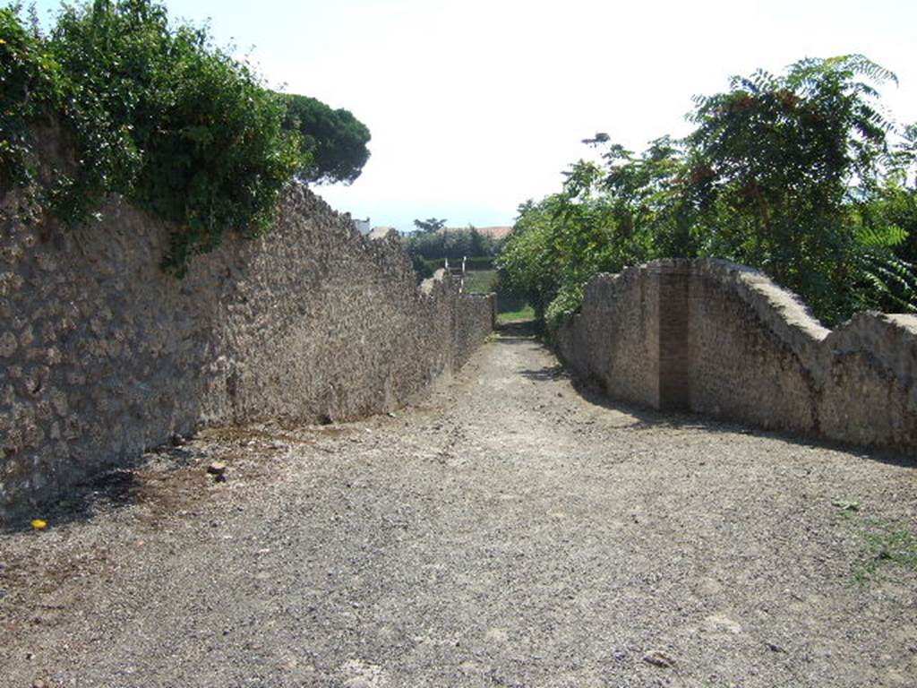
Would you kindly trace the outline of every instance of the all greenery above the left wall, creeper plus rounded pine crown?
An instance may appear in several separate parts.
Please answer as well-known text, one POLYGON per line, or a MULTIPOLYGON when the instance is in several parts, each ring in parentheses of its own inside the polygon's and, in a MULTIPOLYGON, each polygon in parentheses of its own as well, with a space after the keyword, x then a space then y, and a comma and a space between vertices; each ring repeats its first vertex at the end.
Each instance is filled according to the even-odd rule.
POLYGON ((369 132, 349 113, 272 93, 149 0, 64 6, 47 36, 6 6, 0 58, 0 183, 28 188, 67 226, 124 195, 173 223, 163 267, 177 276, 226 232, 267 231, 295 176, 352 181, 368 157, 369 132), (39 174, 42 125, 61 128, 74 164, 39 174))

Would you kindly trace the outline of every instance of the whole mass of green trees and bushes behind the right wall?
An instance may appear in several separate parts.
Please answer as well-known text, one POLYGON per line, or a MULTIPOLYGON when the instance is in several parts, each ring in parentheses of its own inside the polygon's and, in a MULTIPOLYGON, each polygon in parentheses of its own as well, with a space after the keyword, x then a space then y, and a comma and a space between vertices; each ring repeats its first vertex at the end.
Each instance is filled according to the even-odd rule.
POLYGON ((734 77, 695 99, 685 139, 636 155, 605 134, 558 194, 519 208, 500 258, 539 317, 576 312, 598 272, 713 256, 767 272, 829 324, 917 312, 917 127, 883 114, 891 72, 859 55, 734 77))

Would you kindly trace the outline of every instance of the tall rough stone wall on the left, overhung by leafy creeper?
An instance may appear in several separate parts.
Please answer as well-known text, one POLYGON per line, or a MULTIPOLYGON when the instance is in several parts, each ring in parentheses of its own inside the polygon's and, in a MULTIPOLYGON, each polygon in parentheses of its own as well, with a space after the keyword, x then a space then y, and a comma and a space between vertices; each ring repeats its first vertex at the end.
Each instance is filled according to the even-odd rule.
POLYGON ((492 324, 492 297, 443 272, 418 288, 393 232, 364 238, 304 188, 181 282, 158 268, 166 227, 104 217, 0 227, 0 520, 201 424, 391 410, 492 324))

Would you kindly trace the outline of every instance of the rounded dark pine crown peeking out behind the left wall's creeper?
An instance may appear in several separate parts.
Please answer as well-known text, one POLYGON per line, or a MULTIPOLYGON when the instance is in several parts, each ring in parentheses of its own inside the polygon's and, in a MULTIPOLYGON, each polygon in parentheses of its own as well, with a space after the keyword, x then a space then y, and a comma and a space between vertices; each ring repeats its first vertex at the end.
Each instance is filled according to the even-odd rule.
POLYGON ((353 183, 370 159, 370 130, 348 110, 334 110, 306 95, 285 95, 283 127, 299 132, 311 160, 297 173, 310 183, 353 183))

